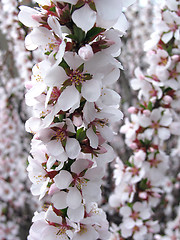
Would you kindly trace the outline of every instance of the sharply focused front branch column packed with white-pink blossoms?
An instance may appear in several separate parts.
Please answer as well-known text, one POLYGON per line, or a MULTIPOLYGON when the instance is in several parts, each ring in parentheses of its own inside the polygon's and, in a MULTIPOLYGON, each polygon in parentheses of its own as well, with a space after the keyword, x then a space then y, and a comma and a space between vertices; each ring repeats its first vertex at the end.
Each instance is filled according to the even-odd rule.
POLYGON ((49 204, 35 213, 28 240, 107 239, 105 213, 97 207, 106 164, 114 159, 107 144, 110 124, 120 121, 120 96, 111 86, 120 76, 122 13, 134 0, 36 1, 20 7, 19 20, 32 31, 29 50, 41 49, 26 82, 33 117, 27 168, 31 191, 49 204))

